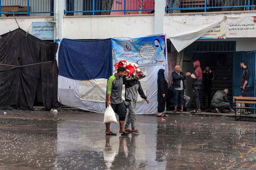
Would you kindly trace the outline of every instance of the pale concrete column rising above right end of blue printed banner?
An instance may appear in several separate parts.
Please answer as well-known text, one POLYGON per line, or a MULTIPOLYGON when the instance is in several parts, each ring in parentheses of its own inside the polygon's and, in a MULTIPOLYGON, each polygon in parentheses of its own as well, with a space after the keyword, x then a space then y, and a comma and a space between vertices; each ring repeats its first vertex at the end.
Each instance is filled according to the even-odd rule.
POLYGON ((166 0, 155 0, 154 33, 164 34, 164 14, 166 0))

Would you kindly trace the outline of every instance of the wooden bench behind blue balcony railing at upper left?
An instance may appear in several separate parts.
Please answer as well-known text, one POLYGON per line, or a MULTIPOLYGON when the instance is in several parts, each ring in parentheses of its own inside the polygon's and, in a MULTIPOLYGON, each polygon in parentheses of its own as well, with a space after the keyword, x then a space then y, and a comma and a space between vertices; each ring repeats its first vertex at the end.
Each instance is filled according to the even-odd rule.
POLYGON ((19 5, 14 5, 14 6, 1 6, 1 12, 9 12, 8 14, 4 14, 7 17, 8 16, 13 16, 13 12, 15 16, 20 16, 20 15, 26 15, 26 12, 30 11, 30 6, 19 6, 19 5))

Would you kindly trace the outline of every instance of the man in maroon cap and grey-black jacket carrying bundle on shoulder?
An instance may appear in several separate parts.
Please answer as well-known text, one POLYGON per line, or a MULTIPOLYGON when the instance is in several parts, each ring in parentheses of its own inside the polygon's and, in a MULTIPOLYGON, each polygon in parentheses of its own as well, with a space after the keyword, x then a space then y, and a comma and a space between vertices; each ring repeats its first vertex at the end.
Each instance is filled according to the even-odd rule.
MULTIPOLYGON (((145 96, 143 89, 141 87, 140 80, 143 76, 143 72, 139 71, 135 75, 135 79, 131 81, 123 81, 125 84, 125 101, 130 102, 130 107, 128 108, 129 113, 127 116, 126 124, 124 126, 124 130, 127 132, 135 132, 139 133, 137 129, 135 129, 136 126, 136 112, 135 112, 135 107, 136 107, 136 101, 138 98, 138 92, 141 96, 141 98, 145 99, 147 104, 149 103, 149 100, 145 96), (132 130, 129 129, 129 126, 132 126, 132 130)), ((124 79, 125 80, 125 79, 124 79)))

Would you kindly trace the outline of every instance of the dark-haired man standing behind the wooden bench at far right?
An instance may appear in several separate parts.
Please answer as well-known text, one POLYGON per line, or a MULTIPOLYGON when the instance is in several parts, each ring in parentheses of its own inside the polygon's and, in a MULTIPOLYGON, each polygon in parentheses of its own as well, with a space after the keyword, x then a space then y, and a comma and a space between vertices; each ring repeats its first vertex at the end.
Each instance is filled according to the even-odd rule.
MULTIPOLYGON (((241 68, 243 69, 243 73, 242 73, 242 78, 241 78, 241 91, 242 91, 242 96, 243 97, 247 97, 248 95, 248 91, 249 91, 249 77, 250 77, 250 71, 249 69, 247 68, 246 66, 246 61, 242 61, 240 63, 241 65, 241 68)), ((249 104, 248 103, 244 103, 244 106, 245 107, 249 107, 249 104)), ((246 111, 242 114, 251 114, 250 111, 246 111)))

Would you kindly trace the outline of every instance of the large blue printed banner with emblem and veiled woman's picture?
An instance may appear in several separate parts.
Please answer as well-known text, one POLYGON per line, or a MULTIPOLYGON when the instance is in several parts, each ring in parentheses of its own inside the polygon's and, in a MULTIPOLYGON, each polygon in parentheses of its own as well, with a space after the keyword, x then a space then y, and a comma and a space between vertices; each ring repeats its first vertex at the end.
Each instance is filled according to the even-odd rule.
POLYGON ((165 35, 139 38, 112 38, 113 65, 126 60, 138 66, 167 64, 165 35))

